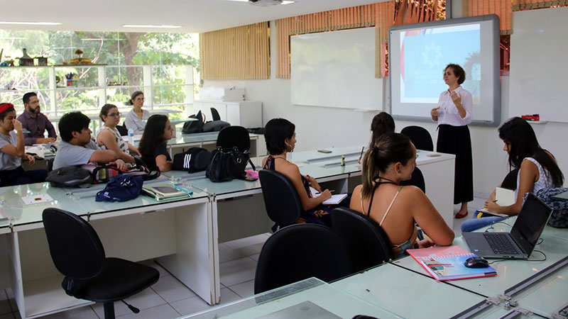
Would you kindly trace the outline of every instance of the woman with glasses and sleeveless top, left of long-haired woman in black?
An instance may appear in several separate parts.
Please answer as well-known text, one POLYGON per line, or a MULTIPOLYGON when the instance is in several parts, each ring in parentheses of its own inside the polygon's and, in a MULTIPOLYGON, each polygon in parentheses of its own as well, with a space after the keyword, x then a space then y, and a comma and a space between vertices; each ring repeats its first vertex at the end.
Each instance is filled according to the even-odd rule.
POLYGON ((119 108, 114 104, 104 104, 99 117, 104 125, 97 135, 97 145, 106 150, 114 151, 119 159, 124 160, 124 162, 133 163, 134 157, 129 153, 133 152, 140 156, 140 152, 138 152, 138 147, 125 142, 119 130, 116 130, 116 125, 120 122, 119 108))

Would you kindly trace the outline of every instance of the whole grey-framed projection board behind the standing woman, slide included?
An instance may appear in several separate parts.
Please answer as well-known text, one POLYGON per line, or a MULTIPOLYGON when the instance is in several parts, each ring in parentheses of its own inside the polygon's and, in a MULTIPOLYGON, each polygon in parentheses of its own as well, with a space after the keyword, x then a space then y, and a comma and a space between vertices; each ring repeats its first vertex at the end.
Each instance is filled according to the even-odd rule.
POLYGON ((474 125, 496 126, 501 118, 499 18, 495 15, 393 26, 388 30, 391 115, 432 122, 430 110, 448 89, 444 67, 460 65, 461 86, 474 102, 474 125))

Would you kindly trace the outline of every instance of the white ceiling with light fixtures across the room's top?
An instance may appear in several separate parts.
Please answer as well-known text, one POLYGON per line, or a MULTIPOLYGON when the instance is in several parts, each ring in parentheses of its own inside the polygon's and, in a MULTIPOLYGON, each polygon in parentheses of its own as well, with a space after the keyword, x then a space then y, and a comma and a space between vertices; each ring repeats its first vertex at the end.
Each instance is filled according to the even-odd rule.
POLYGON ((62 24, 0 25, 0 28, 200 33, 381 1, 385 0, 297 0, 294 4, 261 7, 227 0, 26 0, 25 4, 4 6, 0 20, 62 24), (123 24, 180 25, 182 28, 124 28, 123 24))

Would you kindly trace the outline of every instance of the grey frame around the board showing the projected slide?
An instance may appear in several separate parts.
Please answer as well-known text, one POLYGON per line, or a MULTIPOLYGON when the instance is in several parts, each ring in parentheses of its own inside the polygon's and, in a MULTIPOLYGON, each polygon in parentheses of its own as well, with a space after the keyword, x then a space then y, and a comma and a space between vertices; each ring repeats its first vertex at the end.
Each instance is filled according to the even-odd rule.
MULTIPOLYGON (((474 120, 471 121, 470 125, 476 126, 489 126, 489 127, 497 127, 501 123, 501 81, 499 79, 500 76, 500 57, 499 57, 499 43, 500 43, 500 36, 501 31, 499 29, 499 17, 495 14, 489 14, 486 16, 474 16, 474 17, 466 17, 466 18, 455 18, 455 19, 447 19, 447 20, 440 20, 440 21, 432 21, 432 22, 422 22, 422 23, 411 23, 411 24, 404 24, 400 26, 392 26, 388 28, 388 47, 389 51, 391 51, 391 33, 395 30, 406 30, 406 29, 416 29, 416 28, 432 28, 432 27, 439 27, 439 26, 452 26, 454 24, 460 23, 475 23, 481 21, 491 21, 493 32, 491 33, 493 38, 493 52, 491 52, 493 58, 493 72, 491 76, 493 77, 493 120, 486 121, 486 120, 474 120)), ((388 55, 388 65, 389 67, 392 65, 392 55, 388 55)), ((396 120, 402 121, 417 121, 417 122, 428 122, 432 123, 432 118, 430 115, 428 116, 403 116, 393 114, 393 74, 389 72, 388 74, 389 79, 389 89, 390 89, 390 96, 391 99, 388 101, 388 111, 391 113, 391 116, 396 120)))

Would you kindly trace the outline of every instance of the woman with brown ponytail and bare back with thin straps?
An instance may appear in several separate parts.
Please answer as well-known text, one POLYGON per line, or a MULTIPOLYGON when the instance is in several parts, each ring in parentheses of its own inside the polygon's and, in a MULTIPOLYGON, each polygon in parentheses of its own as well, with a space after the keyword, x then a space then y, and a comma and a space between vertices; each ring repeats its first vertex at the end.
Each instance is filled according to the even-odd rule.
POLYGON ((375 220, 393 244, 395 258, 405 250, 451 245, 454 232, 416 186, 400 186, 416 167, 416 147, 400 133, 383 135, 364 156, 363 184, 356 186, 349 208, 375 220), (430 239, 417 241, 417 228, 430 239))

